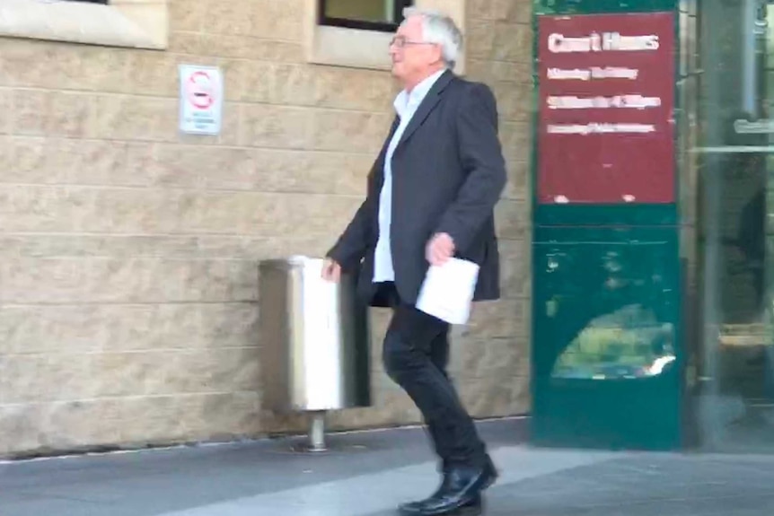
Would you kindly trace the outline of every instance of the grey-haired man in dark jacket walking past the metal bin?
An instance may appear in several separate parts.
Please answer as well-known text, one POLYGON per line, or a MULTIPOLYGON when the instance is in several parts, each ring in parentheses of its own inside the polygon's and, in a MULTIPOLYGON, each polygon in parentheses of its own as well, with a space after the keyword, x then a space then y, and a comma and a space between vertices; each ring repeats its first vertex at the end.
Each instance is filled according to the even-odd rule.
POLYGON ((444 472, 435 494, 400 512, 479 512, 497 472, 446 374, 449 325, 415 304, 427 268, 452 257, 480 266, 474 301, 499 297, 494 207, 506 170, 497 105, 486 85, 453 74, 462 35, 450 18, 408 9, 404 19, 390 46, 404 88, 398 116, 322 275, 338 281, 359 270, 359 293, 393 309, 384 367, 421 411, 444 472))

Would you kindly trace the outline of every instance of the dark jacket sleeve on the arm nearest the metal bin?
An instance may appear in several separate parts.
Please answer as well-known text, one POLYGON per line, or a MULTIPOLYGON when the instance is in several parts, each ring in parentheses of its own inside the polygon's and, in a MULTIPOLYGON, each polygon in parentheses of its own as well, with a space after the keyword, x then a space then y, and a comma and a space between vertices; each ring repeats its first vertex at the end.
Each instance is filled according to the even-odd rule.
POLYGON ((357 209, 352 221, 347 225, 347 229, 344 230, 339 240, 326 255, 345 270, 357 267, 360 260, 365 257, 369 243, 373 240, 374 210, 377 205, 374 195, 378 195, 378 192, 374 193, 375 174, 376 163, 368 173, 368 189, 365 201, 357 209))

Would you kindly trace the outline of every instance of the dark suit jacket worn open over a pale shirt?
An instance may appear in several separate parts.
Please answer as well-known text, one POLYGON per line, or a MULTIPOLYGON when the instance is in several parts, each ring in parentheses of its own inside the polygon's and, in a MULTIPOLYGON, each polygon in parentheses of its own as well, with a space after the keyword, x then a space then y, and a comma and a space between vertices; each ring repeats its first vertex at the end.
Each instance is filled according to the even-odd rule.
MULTIPOLYGON (((368 174, 368 193, 328 256, 358 274, 358 293, 374 299, 374 249, 387 146, 368 174)), ((427 242, 451 235, 456 257, 480 266, 474 301, 499 298, 494 207, 506 185, 497 137, 497 103, 488 86, 446 71, 419 105, 392 155, 391 250, 395 287, 414 304, 427 274, 427 242)))

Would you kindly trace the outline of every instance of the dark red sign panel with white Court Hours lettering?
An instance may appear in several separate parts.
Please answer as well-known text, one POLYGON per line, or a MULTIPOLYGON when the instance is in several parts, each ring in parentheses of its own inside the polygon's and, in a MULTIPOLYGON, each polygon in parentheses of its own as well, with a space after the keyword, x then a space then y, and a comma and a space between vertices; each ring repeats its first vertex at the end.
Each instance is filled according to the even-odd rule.
POLYGON ((672 13, 541 16, 538 202, 674 202, 672 13))

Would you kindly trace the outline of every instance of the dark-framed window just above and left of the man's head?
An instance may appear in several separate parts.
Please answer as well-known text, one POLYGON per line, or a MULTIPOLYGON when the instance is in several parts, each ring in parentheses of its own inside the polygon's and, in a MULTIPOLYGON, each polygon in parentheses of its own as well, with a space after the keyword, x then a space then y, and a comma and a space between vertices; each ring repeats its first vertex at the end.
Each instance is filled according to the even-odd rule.
POLYGON ((365 31, 395 31, 412 0, 320 0, 320 24, 365 31))

